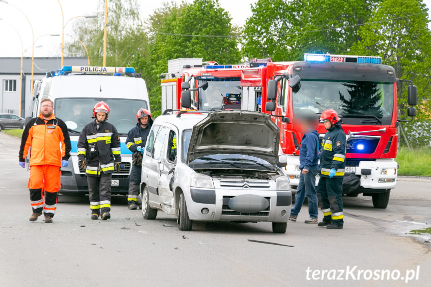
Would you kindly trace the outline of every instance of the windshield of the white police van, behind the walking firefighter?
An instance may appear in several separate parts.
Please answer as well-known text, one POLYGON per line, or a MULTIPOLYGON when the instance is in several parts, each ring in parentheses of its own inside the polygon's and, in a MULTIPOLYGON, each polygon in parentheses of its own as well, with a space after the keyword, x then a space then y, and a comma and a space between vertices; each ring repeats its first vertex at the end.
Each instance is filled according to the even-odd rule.
POLYGON ((57 98, 54 101, 54 115, 62 119, 69 129, 80 132, 93 121, 94 105, 102 100, 109 105, 108 122, 115 126, 119 134, 127 134, 136 126, 136 113, 140 108, 148 109, 144 100, 57 98))

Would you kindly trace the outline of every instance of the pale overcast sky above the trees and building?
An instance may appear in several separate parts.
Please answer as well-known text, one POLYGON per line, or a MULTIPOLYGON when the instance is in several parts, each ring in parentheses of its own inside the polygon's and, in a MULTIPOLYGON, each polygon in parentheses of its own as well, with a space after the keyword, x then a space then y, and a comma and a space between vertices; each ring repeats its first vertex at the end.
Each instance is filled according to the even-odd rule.
MULTIPOLYGON (((34 34, 34 56, 61 56, 62 17, 58 0, 0 0, 0 57, 20 57, 22 39, 23 55, 31 57, 32 33, 25 16, 28 17, 34 34), (21 10, 20 12, 13 6, 21 10), (19 34, 19 36, 18 36, 19 34), (58 34, 58 36, 51 36, 58 34)), ((141 7, 141 16, 147 18, 162 0, 137 0, 141 7)), ((181 0, 173 0, 177 3, 181 0)), ((257 0, 219 0, 226 9, 232 23, 243 26, 252 15, 251 4, 257 0)), ((59 0, 63 8, 64 22, 74 16, 95 15, 99 0, 59 0)), ((192 0, 186 0, 192 2, 192 0)), ((424 0, 431 10, 431 0, 424 0)), ((430 11, 431 17, 431 11, 430 11)), ((73 19, 64 29, 64 42, 74 40, 72 33, 73 19)), ((102 44, 102 43, 101 43, 102 44)))

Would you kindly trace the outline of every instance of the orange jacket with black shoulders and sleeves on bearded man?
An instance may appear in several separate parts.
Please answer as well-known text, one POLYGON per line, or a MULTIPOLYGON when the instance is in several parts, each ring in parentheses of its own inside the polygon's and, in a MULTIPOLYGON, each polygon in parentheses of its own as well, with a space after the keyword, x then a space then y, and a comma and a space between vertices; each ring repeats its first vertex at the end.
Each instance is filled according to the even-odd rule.
POLYGON ((30 149, 30 166, 53 165, 61 167, 62 160, 70 157, 70 138, 66 124, 52 114, 45 123, 41 114, 31 119, 24 128, 19 148, 19 161, 25 161, 30 149))

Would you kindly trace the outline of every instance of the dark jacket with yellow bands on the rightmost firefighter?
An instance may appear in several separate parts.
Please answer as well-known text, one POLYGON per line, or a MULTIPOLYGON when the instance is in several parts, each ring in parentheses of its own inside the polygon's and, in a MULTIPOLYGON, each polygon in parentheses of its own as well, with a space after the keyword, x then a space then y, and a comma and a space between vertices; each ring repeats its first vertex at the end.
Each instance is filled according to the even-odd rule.
POLYGON ((322 142, 319 155, 319 171, 321 176, 329 177, 329 171, 335 169, 334 177, 343 177, 346 168, 346 134, 337 122, 333 125, 322 142))

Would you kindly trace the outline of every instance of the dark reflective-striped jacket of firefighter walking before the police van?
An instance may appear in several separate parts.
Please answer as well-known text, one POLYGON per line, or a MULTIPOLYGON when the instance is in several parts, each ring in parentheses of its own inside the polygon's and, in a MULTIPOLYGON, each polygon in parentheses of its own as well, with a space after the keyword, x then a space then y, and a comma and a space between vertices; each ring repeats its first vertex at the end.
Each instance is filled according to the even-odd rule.
POLYGON ((87 124, 79 134, 77 144, 78 160, 85 160, 85 174, 98 176, 114 172, 114 162, 121 162, 120 137, 110 123, 96 120, 87 124))

